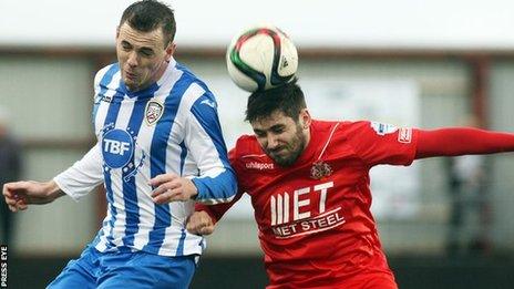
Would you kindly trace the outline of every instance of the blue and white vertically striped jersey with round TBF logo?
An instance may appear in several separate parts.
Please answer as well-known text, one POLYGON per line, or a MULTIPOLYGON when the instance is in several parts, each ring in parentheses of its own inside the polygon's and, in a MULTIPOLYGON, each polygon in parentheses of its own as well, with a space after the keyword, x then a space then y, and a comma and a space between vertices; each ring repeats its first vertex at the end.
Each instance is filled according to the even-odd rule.
POLYGON ((74 199, 104 183, 107 215, 92 245, 100 251, 202 254, 204 239, 185 229, 194 200, 157 205, 147 183, 175 173, 192 178, 198 188, 196 202, 234 197, 236 177, 213 93, 175 60, 160 81, 131 92, 116 63, 95 76, 93 123, 97 144, 54 178, 74 199))

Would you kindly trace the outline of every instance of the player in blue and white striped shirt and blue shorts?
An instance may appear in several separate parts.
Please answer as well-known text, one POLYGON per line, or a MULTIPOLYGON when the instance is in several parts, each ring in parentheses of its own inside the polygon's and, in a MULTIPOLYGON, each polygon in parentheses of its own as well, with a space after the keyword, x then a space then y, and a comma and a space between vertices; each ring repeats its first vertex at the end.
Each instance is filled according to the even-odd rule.
POLYGON ((174 34, 167 6, 130 6, 116 32, 119 62, 94 80, 96 145, 50 182, 3 187, 13 211, 105 187, 102 228, 49 288, 187 288, 205 240, 187 233, 186 218, 195 202, 236 193, 216 100, 174 60, 174 34))

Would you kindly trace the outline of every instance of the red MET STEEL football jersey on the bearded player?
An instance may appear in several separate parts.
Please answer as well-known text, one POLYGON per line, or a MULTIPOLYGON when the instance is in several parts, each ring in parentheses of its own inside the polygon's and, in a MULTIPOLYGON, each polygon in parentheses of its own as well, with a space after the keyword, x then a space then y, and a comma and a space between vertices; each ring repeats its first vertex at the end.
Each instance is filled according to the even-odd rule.
POLYGON ((215 220, 251 197, 269 288, 343 286, 356 275, 391 275, 371 215, 369 171, 410 165, 418 131, 372 122, 313 121, 310 142, 290 167, 278 166, 255 136, 241 136, 229 158, 238 197, 197 206, 215 220))

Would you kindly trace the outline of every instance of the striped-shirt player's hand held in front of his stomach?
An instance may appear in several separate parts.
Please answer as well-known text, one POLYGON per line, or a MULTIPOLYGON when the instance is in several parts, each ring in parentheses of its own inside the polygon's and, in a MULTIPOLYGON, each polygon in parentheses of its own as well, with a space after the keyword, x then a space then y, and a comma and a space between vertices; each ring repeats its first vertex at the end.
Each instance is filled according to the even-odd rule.
POLYGON ((198 194, 195 184, 176 174, 163 174, 152 178, 148 183, 155 189, 152 198, 156 204, 166 204, 177 200, 189 200, 198 194))

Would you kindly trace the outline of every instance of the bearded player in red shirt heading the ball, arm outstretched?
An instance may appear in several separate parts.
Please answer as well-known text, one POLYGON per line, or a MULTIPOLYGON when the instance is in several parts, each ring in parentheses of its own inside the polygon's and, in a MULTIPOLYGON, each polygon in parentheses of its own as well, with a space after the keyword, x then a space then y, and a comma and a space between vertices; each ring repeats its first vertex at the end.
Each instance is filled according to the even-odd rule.
POLYGON ((251 197, 268 288, 397 288, 371 215, 371 167, 431 156, 514 149, 514 134, 469 127, 397 128, 312 120, 296 83, 253 93, 229 154, 239 193, 197 205, 189 231, 206 235, 243 193, 251 197))

